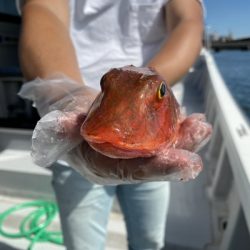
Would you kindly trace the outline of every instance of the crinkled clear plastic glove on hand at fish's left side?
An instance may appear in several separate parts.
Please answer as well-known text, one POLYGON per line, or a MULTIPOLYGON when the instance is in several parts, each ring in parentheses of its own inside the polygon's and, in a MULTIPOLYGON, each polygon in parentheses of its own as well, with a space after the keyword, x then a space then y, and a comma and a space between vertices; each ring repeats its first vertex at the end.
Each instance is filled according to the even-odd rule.
POLYGON ((24 84, 19 95, 32 100, 42 117, 33 131, 31 155, 37 165, 48 167, 82 141, 80 126, 98 91, 55 75, 24 84))

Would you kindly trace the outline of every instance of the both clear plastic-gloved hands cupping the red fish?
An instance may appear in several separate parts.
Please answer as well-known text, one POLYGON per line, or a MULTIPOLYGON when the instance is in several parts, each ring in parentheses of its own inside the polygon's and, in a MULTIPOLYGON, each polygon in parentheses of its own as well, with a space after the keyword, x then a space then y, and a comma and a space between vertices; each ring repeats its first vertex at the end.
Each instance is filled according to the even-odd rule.
POLYGON ((26 83, 19 94, 33 100, 43 116, 32 136, 32 158, 39 166, 50 166, 66 155, 64 159, 80 174, 107 185, 189 180, 202 169, 202 161, 193 151, 211 134, 204 115, 183 119, 185 126, 175 148, 149 158, 112 159, 93 150, 80 136, 80 126, 98 95, 96 90, 57 76, 26 83))

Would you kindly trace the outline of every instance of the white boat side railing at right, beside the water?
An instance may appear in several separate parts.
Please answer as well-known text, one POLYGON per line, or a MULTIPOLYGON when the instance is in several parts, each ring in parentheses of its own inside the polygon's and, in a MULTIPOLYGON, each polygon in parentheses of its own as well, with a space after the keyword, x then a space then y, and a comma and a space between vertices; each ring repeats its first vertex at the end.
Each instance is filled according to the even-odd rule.
POLYGON ((214 242, 207 249, 246 249, 240 246, 250 239, 249 124, 209 51, 203 51, 200 65, 205 113, 213 125, 205 161, 214 242))

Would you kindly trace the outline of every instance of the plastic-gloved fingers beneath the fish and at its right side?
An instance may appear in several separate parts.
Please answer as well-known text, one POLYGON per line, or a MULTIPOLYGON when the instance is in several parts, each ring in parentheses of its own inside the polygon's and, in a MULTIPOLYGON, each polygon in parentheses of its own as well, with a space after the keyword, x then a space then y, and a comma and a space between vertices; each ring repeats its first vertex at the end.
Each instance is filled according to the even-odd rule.
POLYGON ((196 178, 203 168, 200 156, 194 152, 208 142, 211 131, 203 114, 192 114, 183 120, 175 148, 162 149, 153 157, 113 159, 82 141, 68 159, 78 172, 99 184, 187 181, 196 178))

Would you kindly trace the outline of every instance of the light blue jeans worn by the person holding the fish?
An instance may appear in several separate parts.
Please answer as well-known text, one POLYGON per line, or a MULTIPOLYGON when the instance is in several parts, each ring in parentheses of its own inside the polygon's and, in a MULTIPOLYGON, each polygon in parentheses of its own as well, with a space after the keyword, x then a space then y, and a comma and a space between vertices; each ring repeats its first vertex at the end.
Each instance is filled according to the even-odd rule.
POLYGON ((68 250, 105 248, 108 217, 115 195, 124 214, 129 249, 163 247, 168 183, 102 186, 88 182, 72 168, 59 164, 55 164, 52 171, 68 250))

